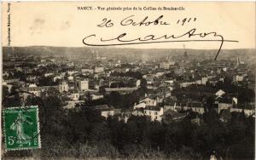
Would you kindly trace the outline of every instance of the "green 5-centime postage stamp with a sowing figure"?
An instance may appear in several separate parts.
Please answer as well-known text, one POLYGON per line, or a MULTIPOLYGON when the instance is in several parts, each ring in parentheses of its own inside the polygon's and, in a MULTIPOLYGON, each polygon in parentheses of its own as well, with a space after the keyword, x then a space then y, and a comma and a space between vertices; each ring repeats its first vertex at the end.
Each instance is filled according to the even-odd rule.
POLYGON ((38 106, 13 107, 3 110, 6 150, 41 147, 38 106))

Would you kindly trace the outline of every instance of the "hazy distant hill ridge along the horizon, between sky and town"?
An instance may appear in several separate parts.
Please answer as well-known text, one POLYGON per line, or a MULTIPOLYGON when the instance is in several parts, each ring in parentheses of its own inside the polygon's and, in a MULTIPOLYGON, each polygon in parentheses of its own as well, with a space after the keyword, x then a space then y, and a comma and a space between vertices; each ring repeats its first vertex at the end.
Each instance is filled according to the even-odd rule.
MULTIPOLYGON (((73 56, 90 55, 97 53, 104 56, 128 56, 137 58, 158 57, 158 56, 183 56, 187 52, 190 58, 201 59, 203 57, 214 58, 217 49, 126 49, 126 48, 88 48, 88 47, 50 47, 50 46, 31 46, 31 47, 3 47, 3 55, 11 54, 38 54, 43 56, 73 56)), ((244 59, 256 60, 255 49, 223 49, 218 56, 218 60, 241 56, 244 59)))

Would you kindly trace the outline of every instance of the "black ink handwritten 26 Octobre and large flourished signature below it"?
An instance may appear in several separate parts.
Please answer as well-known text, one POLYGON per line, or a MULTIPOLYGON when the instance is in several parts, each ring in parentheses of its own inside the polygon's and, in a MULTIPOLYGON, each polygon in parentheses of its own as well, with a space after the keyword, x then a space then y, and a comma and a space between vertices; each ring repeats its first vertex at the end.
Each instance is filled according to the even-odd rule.
MULTIPOLYGON (((131 19, 133 15, 125 18, 120 22, 121 26, 148 26, 148 25, 170 25, 166 21, 160 21, 163 18, 163 15, 158 17, 153 21, 148 20, 148 16, 145 17, 141 22, 135 22, 131 19)), ((111 20, 103 19, 103 23, 105 23, 106 27, 113 26, 111 20)), ((103 27, 104 24, 101 24, 100 27, 103 27)), ((99 26, 99 25, 98 25, 99 26)), ((218 52, 214 58, 217 60, 218 54, 220 53, 224 42, 225 43, 238 43, 236 40, 226 40, 223 35, 218 34, 216 31, 211 32, 200 32, 197 31, 196 28, 190 29, 189 31, 185 31, 183 34, 175 35, 175 34, 165 34, 163 36, 156 36, 154 34, 148 34, 147 36, 136 37, 133 39, 128 39, 128 33, 124 32, 117 37, 113 38, 103 38, 99 37, 99 43, 90 43, 91 38, 97 38, 96 34, 91 34, 90 36, 84 37, 83 43, 87 46, 120 46, 120 45, 134 45, 134 44, 145 44, 145 43, 189 43, 189 42, 219 42, 218 52), (211 39, 209 39, 211 38, 211 39), (114 43, 116 42, 116 43, 114 43)))

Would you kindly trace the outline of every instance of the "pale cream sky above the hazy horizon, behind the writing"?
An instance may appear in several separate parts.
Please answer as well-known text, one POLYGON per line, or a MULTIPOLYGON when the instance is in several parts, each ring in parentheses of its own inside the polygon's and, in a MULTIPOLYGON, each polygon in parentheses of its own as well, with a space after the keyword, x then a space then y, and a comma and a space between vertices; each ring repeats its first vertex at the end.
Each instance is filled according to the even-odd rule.
MULTIPOLYGON (((87 47, 84 37, 91 37, 90 43, 99 43, 99 38, 114 38, 127 33, 128 39, 155 35, 182 35, 196 28, 198 32, 216 31, 224 39, 239 43, 224 43, 223 49, 255 49, 255 3, 247 2, 22 2, 2 3, 2 44, 10 46, 59 46, 87 47), (92 7, 93 10, 79 10, 78 7, 92 7), (105 8, 98 10, 97 7, 105 8), (142 10, 107 11, 108 7, 130 7, 142 10), (143 10, 144 8, 183 7, 184 10, 143 10), (9 12, 8 12, 9 9, 9 12), (8 24, 10 17, 10 27, 8 24), (121 26, 120 21, 134 15, 132 20, 140 22, 146 16, 149 21, 163 15, 168 26, 121 26), (112 20, 112 27, 99 27, 102 20, 112 20), (191 18, 183 26, 177 20, 191 18), (195 20, 196 19, 196 20, 195 20), (193 21, 194 20, 194 21, 193 21), (8 31, 9 29, 9 31, 8 31)), ((217 37, 209 37, 216 39, 217 37)), ((116 42, 110 42, 116 43, 116 42)), ((116 47, 157 49, 218 49, 220 42, 150 43, 116 47)))

